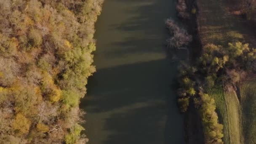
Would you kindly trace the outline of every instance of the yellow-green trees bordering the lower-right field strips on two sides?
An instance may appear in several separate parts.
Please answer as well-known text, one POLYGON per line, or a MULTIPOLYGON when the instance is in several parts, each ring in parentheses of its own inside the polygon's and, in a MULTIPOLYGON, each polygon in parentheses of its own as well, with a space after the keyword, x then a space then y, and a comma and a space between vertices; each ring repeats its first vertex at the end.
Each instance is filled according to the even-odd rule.
POLYGON ((226 47, 208 44, 195 64, 182 64, 179 75, 179 104, 186 112, 189 99, 199 109, 206 144, 221 144, 223 126, 218 123, 214 99, 207 91, 219 85, 225 90, 236 89, 236 84, 250 72, 255 72, 256 49, 240 42, 226 47))

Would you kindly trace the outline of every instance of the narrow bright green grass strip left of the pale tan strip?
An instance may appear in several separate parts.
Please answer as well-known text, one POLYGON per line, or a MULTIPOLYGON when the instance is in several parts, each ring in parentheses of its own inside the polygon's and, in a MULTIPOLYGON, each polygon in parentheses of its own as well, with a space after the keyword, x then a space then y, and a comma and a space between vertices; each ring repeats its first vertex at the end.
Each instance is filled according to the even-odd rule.
POLYGON ((230 136, 229 136, 229 118, 228 111, 226 106, 226 100, 223 88, 219 85, 217 88, 212 88, 207 91, 209 96, 213 97, 216 103, 216 112, 219 117, 219 122, 223 124, 223 141, 224 144, 230 144, 230 136))

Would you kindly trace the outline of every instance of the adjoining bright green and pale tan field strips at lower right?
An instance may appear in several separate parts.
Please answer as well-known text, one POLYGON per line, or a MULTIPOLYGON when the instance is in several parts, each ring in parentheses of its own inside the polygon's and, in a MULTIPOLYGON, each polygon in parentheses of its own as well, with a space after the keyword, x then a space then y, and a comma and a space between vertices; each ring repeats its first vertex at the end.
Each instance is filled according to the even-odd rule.
POLYGON ((243 117, 236 92, 224 92, 221 85, 219 85, 216 88, 208 90, 208 94, 214 98, 219 122, 224 126, 224 144, 244 144, 243 117))

